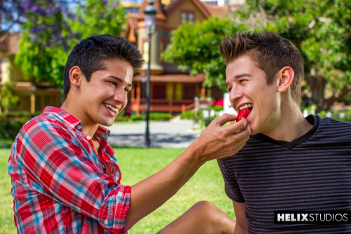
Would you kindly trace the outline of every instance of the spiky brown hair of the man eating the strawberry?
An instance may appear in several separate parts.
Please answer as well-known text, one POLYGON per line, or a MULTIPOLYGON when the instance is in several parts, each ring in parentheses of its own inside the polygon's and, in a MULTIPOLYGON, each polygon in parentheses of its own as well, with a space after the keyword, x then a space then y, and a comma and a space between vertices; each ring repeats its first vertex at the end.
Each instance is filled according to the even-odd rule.
POLYGON ((257 67, 267 74, 267 84, 274 82, 277 72, 289 66, 295 72, 291 83, 291 98, 300 105, 301 83, 303 82, 303 58, 288 39, 274 32, 239 32, 233 39, 225 37, 220 43, 220 55, 225 64, 240 56, 249 56, 257 67))

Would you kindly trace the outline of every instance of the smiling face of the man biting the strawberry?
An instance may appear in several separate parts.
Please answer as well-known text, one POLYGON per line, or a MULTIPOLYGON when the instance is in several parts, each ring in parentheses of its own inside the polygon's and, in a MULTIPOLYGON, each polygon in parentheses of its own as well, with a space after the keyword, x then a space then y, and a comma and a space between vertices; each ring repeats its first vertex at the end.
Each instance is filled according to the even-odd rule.
POLYGON ((251 134, 273 131, 279 121, 280 94, 277 82, 267 85, 266 73, 249 56, 240 56, 227 65, 226 86, 230 103, 237 112, 249 108, 251 134))

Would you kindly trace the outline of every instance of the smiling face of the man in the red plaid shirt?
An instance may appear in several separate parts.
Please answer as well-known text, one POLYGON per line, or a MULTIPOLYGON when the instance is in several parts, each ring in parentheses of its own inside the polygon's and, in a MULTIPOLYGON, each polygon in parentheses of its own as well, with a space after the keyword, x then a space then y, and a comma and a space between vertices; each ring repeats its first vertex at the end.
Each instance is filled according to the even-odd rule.
POLYGON ((126 107, 133 67, 118 58, 105 63, 106 69, 93 72, 89 82, 85 77, 81 79, 77 117, 82 124, 111 126, 117 114, 126 107))

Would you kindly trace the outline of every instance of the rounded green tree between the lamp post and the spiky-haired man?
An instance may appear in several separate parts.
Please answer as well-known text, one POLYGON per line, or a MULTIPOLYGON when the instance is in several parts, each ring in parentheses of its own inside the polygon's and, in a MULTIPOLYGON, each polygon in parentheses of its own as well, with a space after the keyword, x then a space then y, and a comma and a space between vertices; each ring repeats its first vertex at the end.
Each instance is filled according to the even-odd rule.
POLYGON ((244 28, 245 25, 237 26, 217 16, 181 25, 171 32, 164 59, 182 70, 190 69, 190 74, 204 73, 204 86, 215 85, 225 90, 225 63, 220 57, 219 44, 223 37, 244 28))

